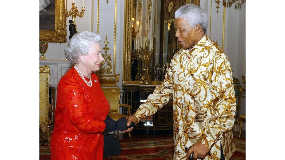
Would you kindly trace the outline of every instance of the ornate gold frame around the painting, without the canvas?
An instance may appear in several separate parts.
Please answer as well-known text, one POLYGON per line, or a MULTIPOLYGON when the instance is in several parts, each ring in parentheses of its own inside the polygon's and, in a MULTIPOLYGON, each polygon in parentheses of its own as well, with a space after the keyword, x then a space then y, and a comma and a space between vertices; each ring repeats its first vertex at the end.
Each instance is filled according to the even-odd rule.
POLYGON ((52 43, 66 43, 66 16, 64 0, 55 0, 54 30, 40 30, 40 40, 52 43))

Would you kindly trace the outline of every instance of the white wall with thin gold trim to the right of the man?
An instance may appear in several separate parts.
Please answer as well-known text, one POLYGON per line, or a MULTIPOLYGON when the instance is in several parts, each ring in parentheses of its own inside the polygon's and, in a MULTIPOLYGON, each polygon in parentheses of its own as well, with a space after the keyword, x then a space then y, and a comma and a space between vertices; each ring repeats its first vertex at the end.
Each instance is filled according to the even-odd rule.
MULTIPOLYGON (((239 79, 240 85, 244 86, 241 76, 245 75, 245 3, 238 8, 234 3, 225 7, 224 26, 223 1, 219 3, 218 13, 216 6, 217 3, 214 0, 200 0, 200 7, 207 11, 209 17, 206 34, 212 40, 217 41, 221 47, 224 40, 224 50, 229 58, 233 77, 239 79), (225 28, 224 38, 223 27, 225 28)), ((245 114, 245 98, 242 98, 239 114, 245 114)), ((243 130, 245 130, 245 123, 243 123, 243 130)))

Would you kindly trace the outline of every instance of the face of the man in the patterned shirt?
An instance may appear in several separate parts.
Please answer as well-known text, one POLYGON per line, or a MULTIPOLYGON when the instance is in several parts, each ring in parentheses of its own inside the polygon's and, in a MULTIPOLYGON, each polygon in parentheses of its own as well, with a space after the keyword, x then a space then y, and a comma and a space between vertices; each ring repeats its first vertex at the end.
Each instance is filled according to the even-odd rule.
POLYGON ((186 19, 175 19, 174 26, 176 29, 175 36, 184 50, 194 47, 199 42, 195 27, 192 28, 186 19))

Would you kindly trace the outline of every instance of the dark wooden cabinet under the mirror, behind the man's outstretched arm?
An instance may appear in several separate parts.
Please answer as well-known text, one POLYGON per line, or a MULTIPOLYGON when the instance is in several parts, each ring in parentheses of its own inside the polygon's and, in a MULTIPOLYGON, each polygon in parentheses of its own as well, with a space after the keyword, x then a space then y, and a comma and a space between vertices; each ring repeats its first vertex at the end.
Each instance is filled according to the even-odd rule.
MULTIPOLYGON (((124 102, 131 105, 131 114, 135 113, 140 104, 146 102, 148 95, 158 85, 123 84, 124 102)), ((142 130, 173 130, 172 100, 165 104, 154 115, 141 120, 135 129, 142 130)))

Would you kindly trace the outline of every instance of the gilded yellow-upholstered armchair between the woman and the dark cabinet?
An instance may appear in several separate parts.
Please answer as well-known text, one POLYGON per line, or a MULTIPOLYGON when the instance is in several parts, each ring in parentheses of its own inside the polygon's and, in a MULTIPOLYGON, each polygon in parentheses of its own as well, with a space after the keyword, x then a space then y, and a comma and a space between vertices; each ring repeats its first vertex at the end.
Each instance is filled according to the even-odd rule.
MULTIPOLYGON (((105 97, 107 98, 109 105, 110 105, 110 110, 109 110, 109 116, 113 118, 113 120, 118 120, 122 117, 128 118, 131 116, 131 106, 127 104, 121 104, 120 99, 121 99, 121 94, 118 91, 115 90, 103 90, 103 93, 105 97), (120 114, 120 107, 126 107, 128 115, 125 114, 120 114)), ((119 134, 119 131, 118 131, 119 134)), ((131 134, 129 133, 129 137, 131 138, 131 134)))

